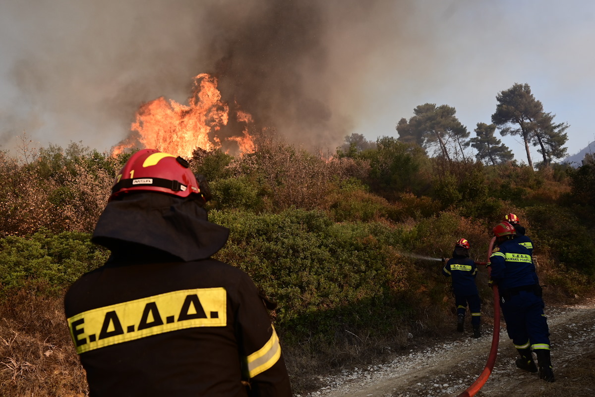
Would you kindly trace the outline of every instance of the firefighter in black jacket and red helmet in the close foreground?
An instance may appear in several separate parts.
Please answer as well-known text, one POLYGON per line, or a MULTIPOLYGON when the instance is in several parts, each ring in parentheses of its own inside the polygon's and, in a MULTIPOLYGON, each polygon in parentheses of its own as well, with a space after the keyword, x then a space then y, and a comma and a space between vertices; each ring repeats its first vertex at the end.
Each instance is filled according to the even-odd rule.
POLYGON ((157 150, 118 173, 92 238, 111 256, 65 296, 91 397, 291 395, 271 303, 210 258, 229 231, 208 222, 209 196, 186 160, 157 150))

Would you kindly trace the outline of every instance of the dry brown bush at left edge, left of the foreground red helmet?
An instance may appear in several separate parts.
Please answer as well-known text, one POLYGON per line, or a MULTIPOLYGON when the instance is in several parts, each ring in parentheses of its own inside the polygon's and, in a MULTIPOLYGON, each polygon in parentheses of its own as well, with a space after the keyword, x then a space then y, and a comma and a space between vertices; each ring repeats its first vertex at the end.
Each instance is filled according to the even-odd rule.
POLYGON ((44 166, 39 158, 19 163, 0 152, 0 237, 24 236, 42 227, 54 232, 93 230, 113 175, 74 163, 44 177, 44 166))

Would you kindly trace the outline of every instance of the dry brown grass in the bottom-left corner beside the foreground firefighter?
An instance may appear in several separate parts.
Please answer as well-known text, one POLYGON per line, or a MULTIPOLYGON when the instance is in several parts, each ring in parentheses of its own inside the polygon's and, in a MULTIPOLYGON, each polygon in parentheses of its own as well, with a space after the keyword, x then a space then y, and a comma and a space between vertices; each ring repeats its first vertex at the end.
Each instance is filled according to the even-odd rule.
POLYGON ((61 298, 20 292, 0 304, 0 358, 3 397, 87 395, 61 298))

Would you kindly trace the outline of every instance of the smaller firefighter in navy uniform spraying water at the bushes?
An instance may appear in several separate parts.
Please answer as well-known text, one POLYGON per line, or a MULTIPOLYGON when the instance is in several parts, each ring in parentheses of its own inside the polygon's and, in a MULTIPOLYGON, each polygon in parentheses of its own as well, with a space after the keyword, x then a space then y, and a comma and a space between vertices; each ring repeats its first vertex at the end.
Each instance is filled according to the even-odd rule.
POLYGON ((471 325, 473 326, 473 337, 481 336, 481 300, 475 285, 477 266, 475 261, 469 258, 469 241, 465 238, 457 241, 452 259, 449 259, 442 268, 444 276, 452 278, 452 287, 455 292, 455 305, 457 313, 456 329, 463 332, 465 324, 465 313, 467 304, 471 311, 471 325))

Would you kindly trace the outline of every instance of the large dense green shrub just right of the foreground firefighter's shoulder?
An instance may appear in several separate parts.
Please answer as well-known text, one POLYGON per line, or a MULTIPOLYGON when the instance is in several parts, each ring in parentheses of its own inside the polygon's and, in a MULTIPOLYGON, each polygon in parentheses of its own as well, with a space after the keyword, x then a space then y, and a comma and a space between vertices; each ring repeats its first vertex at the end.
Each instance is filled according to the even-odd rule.
POLYGON ((386 319, 403 310, 396 297, 409 291, 408 260, 390 246, 400 232, 383 223, 334 223, 304 210, 209 218, 231 229, 217 258, 248 272, 279 303, 275 317, 293 338, 332 338, 326 331, 338 321, 377 332, 394 326, 386 319))

